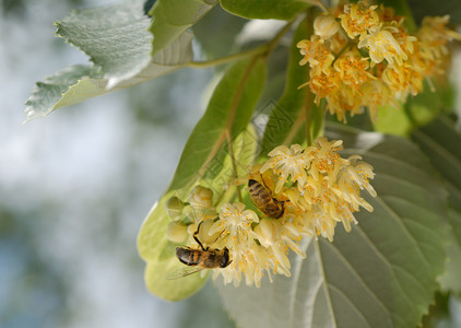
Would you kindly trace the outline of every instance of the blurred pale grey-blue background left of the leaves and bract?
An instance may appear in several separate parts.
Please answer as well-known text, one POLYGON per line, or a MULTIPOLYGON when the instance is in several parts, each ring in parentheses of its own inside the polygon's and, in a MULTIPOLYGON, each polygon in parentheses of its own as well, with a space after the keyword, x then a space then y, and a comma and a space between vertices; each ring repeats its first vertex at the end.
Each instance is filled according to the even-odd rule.
POLYGON ((233 327, 210 283, 179 303, 151 295, 135 244, 205 107, 211 71, 21 125, 35 81, 87 62, 52 22, 110 2, 1 1, 0 327, 233 327))

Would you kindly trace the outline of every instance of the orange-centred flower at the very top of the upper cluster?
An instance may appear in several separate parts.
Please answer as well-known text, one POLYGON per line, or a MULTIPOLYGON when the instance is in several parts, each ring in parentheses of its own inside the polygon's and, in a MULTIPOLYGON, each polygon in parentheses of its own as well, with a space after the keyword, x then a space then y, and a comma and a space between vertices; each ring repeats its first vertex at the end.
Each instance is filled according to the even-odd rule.
POLYGON ((379 16, 375 11, 377 8, 378 5, 369 7, 365 1, 344 5, 344 13, 339 17, 341 26, 350 38, 354 39, 359 35, 362 39, 367 34, 367 30, 379 24, 379 16))

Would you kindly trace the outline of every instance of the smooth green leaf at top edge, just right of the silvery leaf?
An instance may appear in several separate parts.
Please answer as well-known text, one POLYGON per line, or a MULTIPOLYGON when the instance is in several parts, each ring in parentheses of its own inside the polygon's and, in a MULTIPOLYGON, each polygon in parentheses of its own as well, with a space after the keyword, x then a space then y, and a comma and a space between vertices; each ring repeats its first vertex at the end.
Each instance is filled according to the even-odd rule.
POLYGON ((217 0, 157 0, 149 14, 154 39, 152 54, 155 55, 168 44, 192 27, 217 0))

